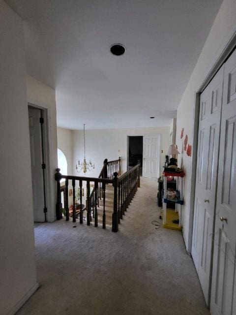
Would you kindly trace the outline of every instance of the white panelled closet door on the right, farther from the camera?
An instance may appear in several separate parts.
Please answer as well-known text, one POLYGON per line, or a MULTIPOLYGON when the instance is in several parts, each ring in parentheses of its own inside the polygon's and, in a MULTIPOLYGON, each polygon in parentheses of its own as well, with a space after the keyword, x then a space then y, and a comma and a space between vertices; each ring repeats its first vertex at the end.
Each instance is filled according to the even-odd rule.
POLYGON ((222 66, 200 97, 192 257, 207 305, 210 302, 223 76, 222 66))

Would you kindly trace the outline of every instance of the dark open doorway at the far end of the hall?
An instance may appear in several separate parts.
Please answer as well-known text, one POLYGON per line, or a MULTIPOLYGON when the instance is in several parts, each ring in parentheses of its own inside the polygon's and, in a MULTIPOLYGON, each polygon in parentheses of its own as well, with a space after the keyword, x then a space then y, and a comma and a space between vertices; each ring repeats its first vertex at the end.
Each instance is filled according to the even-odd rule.
POLYGON ((140 160, 140 175, 143 167, 143 136, 128 136, 128 169, 138 164, 140 160))

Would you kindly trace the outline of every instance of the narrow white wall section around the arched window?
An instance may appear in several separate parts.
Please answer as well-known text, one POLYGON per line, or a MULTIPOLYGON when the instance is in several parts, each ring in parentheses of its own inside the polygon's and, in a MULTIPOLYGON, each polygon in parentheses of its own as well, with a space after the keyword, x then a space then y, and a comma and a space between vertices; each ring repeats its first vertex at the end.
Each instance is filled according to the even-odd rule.
POLYGON ((58 127, 58 148, 67 160, 67 174, 72 175, 72 131, 58 127))

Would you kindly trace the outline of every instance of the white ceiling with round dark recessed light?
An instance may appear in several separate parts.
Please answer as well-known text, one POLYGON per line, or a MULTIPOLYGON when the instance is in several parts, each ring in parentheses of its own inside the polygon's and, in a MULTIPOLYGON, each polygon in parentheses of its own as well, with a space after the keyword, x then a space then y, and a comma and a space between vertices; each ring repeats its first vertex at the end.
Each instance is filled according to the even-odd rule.
POLYGON ((170 124, 222 0, 6 2, 25 21, 28 74, 56 89, 58 126, 99 129, 170 124))

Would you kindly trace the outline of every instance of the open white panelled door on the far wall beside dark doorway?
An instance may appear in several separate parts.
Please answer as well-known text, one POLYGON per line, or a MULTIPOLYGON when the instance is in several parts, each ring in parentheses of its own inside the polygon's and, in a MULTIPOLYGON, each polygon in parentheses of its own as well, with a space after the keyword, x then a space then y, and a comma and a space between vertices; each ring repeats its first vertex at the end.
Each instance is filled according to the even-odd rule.
POLYGON ((143 177, 160 176, 160 134, 144 135, 143 177))

